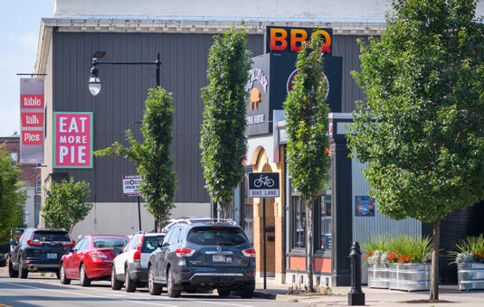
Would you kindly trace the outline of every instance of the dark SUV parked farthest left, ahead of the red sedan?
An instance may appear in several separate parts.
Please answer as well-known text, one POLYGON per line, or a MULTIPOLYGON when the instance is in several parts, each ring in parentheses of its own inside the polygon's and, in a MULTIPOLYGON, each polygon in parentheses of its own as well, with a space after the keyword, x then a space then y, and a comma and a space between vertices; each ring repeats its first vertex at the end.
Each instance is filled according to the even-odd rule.
POLYGON ((59 260, 71 251, 74 241, 64 229, 27 228, 13 247, 8 263, 10 277, 27 278, 29 272, 55 272, 59 260))

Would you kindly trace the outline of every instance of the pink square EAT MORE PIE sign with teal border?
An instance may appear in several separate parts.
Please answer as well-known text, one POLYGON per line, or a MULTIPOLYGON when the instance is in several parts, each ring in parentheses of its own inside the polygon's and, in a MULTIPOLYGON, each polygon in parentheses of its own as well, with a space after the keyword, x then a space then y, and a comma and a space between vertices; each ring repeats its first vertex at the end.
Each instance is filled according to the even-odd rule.
POLYGON ((53 167, 92 168, 92 112, 53 113, 53 167))

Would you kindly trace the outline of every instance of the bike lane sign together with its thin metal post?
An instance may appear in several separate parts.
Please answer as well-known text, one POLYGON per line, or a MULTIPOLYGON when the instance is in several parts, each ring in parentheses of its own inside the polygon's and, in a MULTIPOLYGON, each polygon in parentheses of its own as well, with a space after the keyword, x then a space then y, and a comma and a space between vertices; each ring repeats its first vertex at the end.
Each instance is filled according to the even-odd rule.
POLYGON ((267 289, 266 198, 279 197, 279 172, 250 172, 249 197, 262 199, 262 236, 264 259, 264 289, 267 289))

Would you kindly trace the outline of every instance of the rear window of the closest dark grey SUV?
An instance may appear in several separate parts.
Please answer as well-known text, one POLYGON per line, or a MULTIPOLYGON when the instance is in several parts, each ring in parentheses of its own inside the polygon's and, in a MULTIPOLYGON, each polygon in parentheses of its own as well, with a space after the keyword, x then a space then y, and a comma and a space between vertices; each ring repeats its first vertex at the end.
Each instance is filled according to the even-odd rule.
POLYGON ((202 246, 237 246, 247 242, 240 228, 207 227, 193 228, 186 240, 202 246))

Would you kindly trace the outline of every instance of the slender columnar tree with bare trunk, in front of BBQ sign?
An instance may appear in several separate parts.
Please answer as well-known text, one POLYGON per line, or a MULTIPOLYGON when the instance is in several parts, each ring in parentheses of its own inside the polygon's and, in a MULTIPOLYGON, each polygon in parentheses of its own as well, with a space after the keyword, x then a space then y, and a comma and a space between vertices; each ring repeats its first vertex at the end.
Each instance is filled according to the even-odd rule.
POLYGON ((299 72, 294 78, 293 90, 284 102, 284 112, 287 116, 289 174, 293 187, 299 191, 306 205, 306 267, 308 289, 311 292, 314 292, 313 203, 323 188, 330 166, 327 154, 327 83, 322 75, 323 54, 318 51, 321 43, 321 36, 316 35, 308 46, 302 46, 296 62, 299 72))

